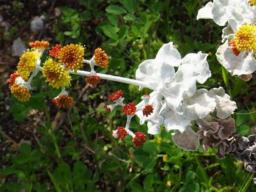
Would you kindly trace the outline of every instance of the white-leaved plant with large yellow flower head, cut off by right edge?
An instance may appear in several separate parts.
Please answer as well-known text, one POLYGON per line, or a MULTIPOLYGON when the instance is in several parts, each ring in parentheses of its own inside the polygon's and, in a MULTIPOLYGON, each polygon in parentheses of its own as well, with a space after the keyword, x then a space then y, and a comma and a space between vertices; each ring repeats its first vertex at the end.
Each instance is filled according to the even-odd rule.
POLYGON ((213 0, 198 11, 197 19, 213 19, 220 26, 227 23, 217 59, 231 75, 249 81, 256 71, 255 1, 213 0))

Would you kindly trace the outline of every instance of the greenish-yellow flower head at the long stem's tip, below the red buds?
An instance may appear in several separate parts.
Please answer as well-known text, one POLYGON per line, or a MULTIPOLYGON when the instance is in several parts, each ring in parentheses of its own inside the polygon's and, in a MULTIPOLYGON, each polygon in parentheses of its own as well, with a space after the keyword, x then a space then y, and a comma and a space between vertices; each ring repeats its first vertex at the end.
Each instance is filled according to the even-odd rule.
POLYGON ((43 66, 43 77, 46 77, 46 82, 49 82, 49 85, 59 89, 59 87, 68 87, 70 86, 71 76, 68 71, 63 69, 58 62, 54 61, 52 58, 49 58, 43 66))

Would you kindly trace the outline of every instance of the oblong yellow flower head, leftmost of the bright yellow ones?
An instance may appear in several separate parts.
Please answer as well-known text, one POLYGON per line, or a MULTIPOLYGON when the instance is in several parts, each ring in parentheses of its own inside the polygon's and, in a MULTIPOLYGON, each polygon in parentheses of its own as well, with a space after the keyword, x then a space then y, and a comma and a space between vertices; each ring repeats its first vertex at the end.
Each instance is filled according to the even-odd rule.
POLYGON ((32 49, 27 50, 27 52, 25 52, 19 59, 17 72, 25 81, 28 80, 30 72, 33 71, 33 69, 37 65, 37 59, 39 59, 40 56, 41 54, 37 50, 32 49))

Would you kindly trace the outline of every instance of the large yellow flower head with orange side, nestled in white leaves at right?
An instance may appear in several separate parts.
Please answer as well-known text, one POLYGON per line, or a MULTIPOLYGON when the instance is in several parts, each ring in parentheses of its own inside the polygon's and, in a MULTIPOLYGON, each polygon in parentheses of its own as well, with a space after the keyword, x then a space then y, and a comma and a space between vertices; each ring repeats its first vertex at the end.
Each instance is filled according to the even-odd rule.
POLYGON ((242 25, 235 32, 235 38, 231 43, 231 49, 235 55, 245 50, 249 52, 256 50, 256 24, 242 25))

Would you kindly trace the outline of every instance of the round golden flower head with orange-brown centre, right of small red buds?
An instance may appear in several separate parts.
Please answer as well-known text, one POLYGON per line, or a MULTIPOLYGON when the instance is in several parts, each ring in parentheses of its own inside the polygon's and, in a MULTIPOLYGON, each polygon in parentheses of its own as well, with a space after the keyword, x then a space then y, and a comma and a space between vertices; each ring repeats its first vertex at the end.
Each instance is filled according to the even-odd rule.
POLYGON ((84 46, 81 44, 69 44, 61 48, 59 51, 59 62, 65 66, 65 68, 74 70, 83 66, 84 58, 84 46))

